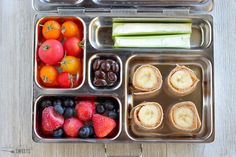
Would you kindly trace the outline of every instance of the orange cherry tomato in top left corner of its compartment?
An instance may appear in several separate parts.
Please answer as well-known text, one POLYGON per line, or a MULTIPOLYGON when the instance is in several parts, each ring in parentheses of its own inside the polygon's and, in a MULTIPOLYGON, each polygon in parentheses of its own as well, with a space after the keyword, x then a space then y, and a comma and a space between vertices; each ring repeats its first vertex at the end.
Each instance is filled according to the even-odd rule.
POLYGON ((45 39, 58 39, 61 35, 61 26, 57 21, 47 21, 42 30, 45 39))

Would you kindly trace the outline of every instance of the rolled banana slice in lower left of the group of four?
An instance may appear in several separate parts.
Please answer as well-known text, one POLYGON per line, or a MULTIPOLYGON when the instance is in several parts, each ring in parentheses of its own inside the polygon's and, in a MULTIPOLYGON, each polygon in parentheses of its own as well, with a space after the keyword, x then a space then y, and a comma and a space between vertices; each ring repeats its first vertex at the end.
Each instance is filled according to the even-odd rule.
POLYGON ((144 129, 156 129, 163 121, 163 110, 156 102, 144 102, 135 106, 131 113, 134 122, 144 129))

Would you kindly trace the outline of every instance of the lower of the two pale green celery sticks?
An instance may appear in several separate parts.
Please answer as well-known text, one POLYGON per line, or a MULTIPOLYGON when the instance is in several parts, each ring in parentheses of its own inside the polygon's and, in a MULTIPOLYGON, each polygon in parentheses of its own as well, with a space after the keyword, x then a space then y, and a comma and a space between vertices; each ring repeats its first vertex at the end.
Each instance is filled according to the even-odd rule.
POLYGON ((190 48, 190 34, 161 36, 129 36, 114 38, 114 47, 121 48, 190 48))

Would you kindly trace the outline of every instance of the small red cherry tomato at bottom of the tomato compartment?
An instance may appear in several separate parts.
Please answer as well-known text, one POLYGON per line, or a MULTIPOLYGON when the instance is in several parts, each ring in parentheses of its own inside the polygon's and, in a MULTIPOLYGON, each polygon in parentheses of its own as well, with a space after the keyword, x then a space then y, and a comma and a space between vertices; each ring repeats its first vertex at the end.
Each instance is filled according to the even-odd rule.
POLYGON ((73 76, 68 72, 62 72, 57 77, 57 82, 62 88, 71 88, 73 87, 73 76))

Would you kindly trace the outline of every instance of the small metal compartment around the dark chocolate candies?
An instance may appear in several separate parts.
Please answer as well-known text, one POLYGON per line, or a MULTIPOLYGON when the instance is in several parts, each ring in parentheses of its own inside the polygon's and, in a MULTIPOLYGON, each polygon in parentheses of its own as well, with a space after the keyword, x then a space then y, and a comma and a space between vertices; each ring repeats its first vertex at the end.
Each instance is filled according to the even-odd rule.
MULTIPOLYGON (((101 74, 99 74, 99 75, 101 75, 101 74)), ((95 55, 90 57, 90 59, 88 61, 88 82, 89 82, 90 87, 93 88, 94 90, 96 90, 96 91, 105 91, 105 90, 106 91, 114 91, 114 90, 118 89, 121 86, 122 78, 123 78, 122 76, 123 76, 122 61, 121 61, 121 59, 120 59, 120 57, 118 55, 115 55, 113 53, 96 53, 95 55), (106 65, 106 67, 105 67, 105 63, 102 63, 102 62, 100 62, 100 63, 96 62, 95 63, 95 61, 98 61, 98 62, 105 61, 105 63, 106 62, 109 63, 110 61, 111 62, 114 61, 115 64, 118 65, 118 67, 113 66, 114 64, 111 64, 111 63, 109 63, 109 66, 106 65), (96 68, 99 68, 99 69, 95 70, 96 69, 94 67, 95 64, 97 64, 96 66, 98 66, 96 68), (109 72, 107 72, 107 69, 105 69, 105 68, 109 68, 108 71, 115 74, 117 79, 116 79, 116 81, 114 83, 109 81, 109 80, 110 79, 114 80, 115 76, 109 75, 109 72), (116 69, 114 69, 114 68, 116 68, 116 69), (105 77, 102 76, 102 79, 104 78, 104 80, 106 82, 108 82, 107 85, 105 85, 105 86, 98 86, 98 85, 95 84, 96 83, 95 80, 100 80, 100 79, 95 79, 96 72, 98 72, 98 71, 102 71, 102 73, 104 72, 105 77), (112 83, 113 85, 110 86, 109 82, 112 83)), ((98 78, 99 77, 100 76, 98 76, 98 78)))

